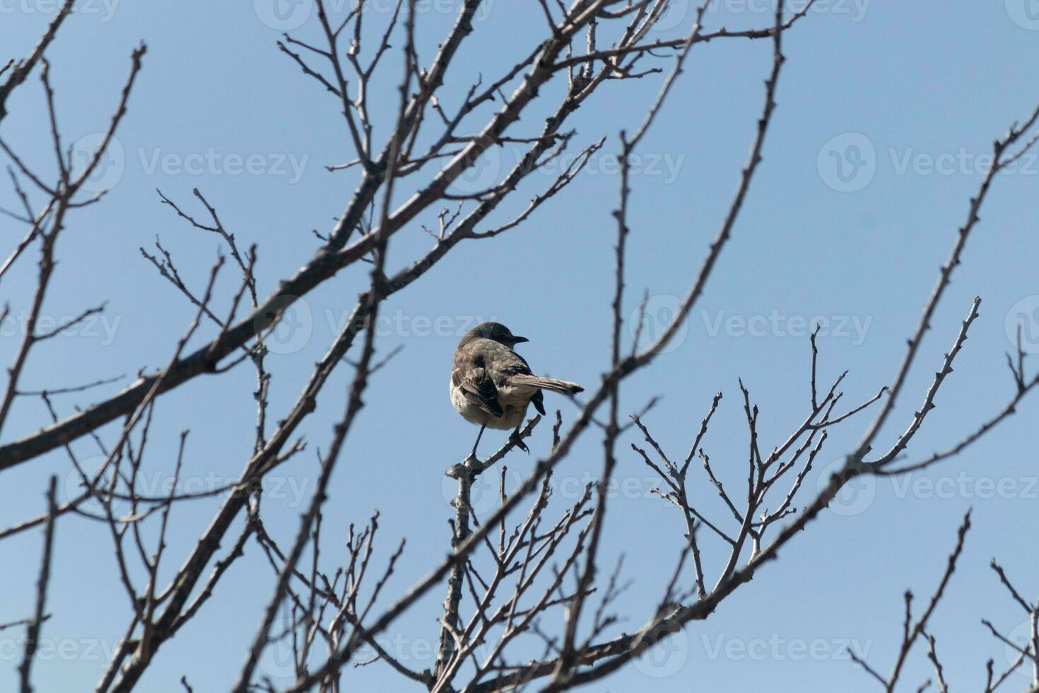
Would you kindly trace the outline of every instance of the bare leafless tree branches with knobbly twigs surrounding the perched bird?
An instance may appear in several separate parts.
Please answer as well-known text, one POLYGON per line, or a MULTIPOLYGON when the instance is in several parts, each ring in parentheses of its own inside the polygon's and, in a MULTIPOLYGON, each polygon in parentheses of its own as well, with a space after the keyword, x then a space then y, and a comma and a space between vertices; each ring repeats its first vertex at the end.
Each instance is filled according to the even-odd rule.
MULTIPOLYGON (((62 232, 75 223, 75 212, 104 198, 104 193, 89 194, 83 184, 119 128, 135 84, 146 74, 145 47, 132 51, 125 86, 115 100, 104 137, 85 167, 78 170, 61 136, 61 117, 55 107, 46 59, 49 46, 56 41, 62 22, 73 10, 73 0, 62 5, 29 55, 12 59, 0 71, 4 80, 0 84, 0 122, 7 114, 5 104, 12 90, 32 75, 42 81, 49 114, 45 127, 53 142, 56 171, 42 172, 47 168, 44 164, 22 158, 17 143, 3 137, 0 126, 0 149, 9 159, 10 183, 22 203, 20 209, 4 213, 26 229, 22 240, 0 266, 0 282, 12 265, 25 262, 28 251, 38 251, 37 281, 28 301, 26 334, 7 370, 0 396, 0 431, 9 434, 10 426, 5 424, 11 409, 26 399, 42 401, 50 415, 50 421, 41 430, 18 432, 17 439, 8 438, 0 446, 0 471, 31 464, 52 451, 63 450, 82 483, 82 492, 77 498, 59 504, 52 480, 45 512, 0 530, 0 539, 39 528, 45 533, 35 607, 30 613, 14 615, 14 620, 2 627, 24 627, 27 631, 20 668, 23 691, 31 690, 34 643, 42 629, 46 629, 52 537, 61 532, 62 515, 70 513, 91 517, 106 528, 104 532, 118 566, 117 589, 125 592, 131 613, 125 631, 119 634, 118 646, 98 682, 99 692, 134 689, 150 664, 162 656, 163 645, 216 598, 216 586, 228 580, 229 568, 247 544, 259 547, 267 558, 274 587, 269 601, 257 607, 261 625, 246 652, 235 691, 276 690, 272 682, 257 671, 264 652, 274 642, 289 643, 293 652, 296 679, 287 691, 338 691, 348 676, 348 667, 379 664, 388 665, 416 686, 436 692, 490 692, 532 686, 543 691, 577 688, 628 665, 690 621, 710 617, 723 599, 738 592, 766 563, 777 558, 788 542, 804 536, 801 530, 836 498, 849 480, 862 475, 905 474, 957 455, 1013 415, 1017 404, 1039 383, 1039 377, 1028 375, 1025 354, 1018 347, 1017 353, 1008 358, 1014 390, 1004 408, 987 414, 974 432, 951 441, 944 451, 918 460, 906 458, 911 441, 931 416, 939 389, 953 372, 953 363, 980 314, 981 298, 967 306, 952 346, 940 358, 921 354, 920 346, 932 327, 950 278, 962 261, 966 241, 980 222, 979 213, 991 185, 1001 170, 1036 141, 1030 134, 1039 119, 1036 109, 994 141, 995 164, 969 199, 962 226, 953 234, 952 250, 909 337, 898 371, 883 387, 877 383, 875 396, 861 402, 843 401, 840 388, 847 371, 829 377, 822 374, 817 335, 812 334, 806 345, 810 349, 810 373, 806 374, 810 399, 791 402, 792 406, 803 406, 803 419, 785 438, 772 445, 760 441, 757 405, 749 389, 742 381, 739 383, 737 400, 747 426, 745 487, 742 472, 741 481, 734 486, 730 475, 712 465, 708 452, 710 427, 719 412, 721 393, 704 403, 708 411, 699 427, 690 432, 692 444, 688 453, 681 457, 665 450, 651 432, 656 402, 648 402, 637 414, 621 412, 619 390, 675 337, 725 250, 767 148, 784 63, 783 37, 789 31, 810 30, 804 25, 810 24, 805 17, 811 2, 802 3, 794 11, 779 0, 770 23, 744 31, 704 26, 708 7, 704 2, 693 12, 685 37, 651 41, 648 31, 668 9, 669 0, 572 0, 569 5, 539 0, 530 3, 528 9, 543 15, 542 37, 510 70, 492 80, 481 79, 472 84, 468 90, 463 89, 461 103, 452 104, 453 99, 444 96, 444 87, 451 79, 451 65, 459 45, 478 30, 473 20, 480 4, 481 0, 460 3, 453 26, 438 42, 435 55, 426 60, 417 50, 416 37, 426 29, 419 21, 416 0, 397 0, 388 27, 377 31, 365 23, 371 9, 363 0, 342 19, 328 11, 324 0, 315 0, 320 43, 285 35, 277 48, 307 79, 317 82, 318 88, 327 92, 341 111, 342 127, 355 156, 334 168, 350 169, 357 176, 349 203, 332 228, 326 233, 315 232, 322 245, 314 258, 275 287, 265 288, 255 272, 258 248, 252 244, 240 245, 210 198, 197 189, 194 201, 175 201, 160 192, 161 205, 198 232, 199 237, 210 234, 218 237, 225 256, 212 265, 204 286, 192 286, 184 278, 180 261, 175 260, 161 240, 156 240, 154 248, 141 248, 143 258, 162 281, 191 303, 194 318, 171 346, 164 368, 140 373, 119 392, 72 414, 59 411, 56 395, 95 391, 113 380, 98 378, 85 383, 62 382, 49 389, 28 390, 22 384, 22 374, 35 347, 56 334, 37 326, 55 272, 55 249, 62 232), (678 88, 678 77, 694 47, 712 41, 756 41, 771 45, 750 153, 707 256, 691 275, 678 314, 648 346, 629 347, 623 339, 625 258, 632 233, 629 155, 638 150, 660 117, 668 95, 678 88), (376 68, 383 61, 399 65, 400 75, 395 82, 388 84, 384 79, 377 79, 383 73, 377 74, 376 68), (321 535, 328 531, 322 525, 322 506, 327 498, 329 476, 349 443, 348 434, 365 405, 369 382, 378 377, 381 368, 393 366, 393 352, 377 355, 379 345, 373 327, 383 301, 421 279, 458 244, 505 234, 534 217, 550 198, 565 195, 567 186, 589 157, 601 148, 612 145, 605 138, 579 142, 574 131, 567 129, 570 115, 586 102, 594 103, 593 95, 608 89, 622 90, 627 81, 652 74, 663 75, 660 91, 646 105, 639 127, 632 133, 621 132, 617 138, 620 189, 614 211, 612 355, 605 365, 602 381, 589 389, 571 421, 564 422, 561 412, 555 414, 551 449, 538 456, 529 476, 516 487, 506 484, 505 460, 516 447, 516 441, 529 436, 541 424, 539 417, 527 422, 516 441, 510 441, 489 457, 470 456, 446 464, 447 476, 457 484, 451 545, 445 547, 447 557, 432 565, 424 577, 412 578, 406 591, 387 593, 384 587, 398 568, 398 558, 406 545, 402 540, 391 540, 389 558, 381 564, 373 560, 376 540, 382 540, 377 514, 362 526, 349 528, 342 555, 328 556, 328 552, 320 551, 321 535), (568 85, 563 98, 545 105, 550 97, 541 87, 562 78, 568 85), (376 116, 368 95, 374 88, 387 90, 391 86, 397 88, 399 102, 394 119, 378 124, 380 132, 390 133, 380 144, 375 140, 376 116), (549 108, 549 115, 538 122, 539 132, 531 133, 522 130, 517 123, 535 102, 549 108), (473 127, 474 123, 479 126, 473 127), (471 168, 481 154, 506 142, 524 146, 525 154, 501 180, 471 194, 452 190, 451 183, 471 168), (517 216, 497 224, 487 222, 503 201, 517 195, 521 182, 566 153, 576 156, 517 216), (398 184, 406 184, 417 192, 403 202, 395 199, 398 184), (395 234, 416 225, 433 236, 432 248, 421 257, 409 258, 403 268, 391 269, 387 263, 388 247, 395 234), (295 403, 286 411, 269 411, 271 373, 265 364, 265 340, 270 330, 294 301, 356 263, 367 263, 370 271, 350 319, 314 367, 295 403), (217 277, 227 271, 228 265, 236 275, 237 290, 221 298, 217 295, 217 277), (218 305, 221 302, 222 309, 218 305), (187 345, 192 339, 204 339, 206 343, 189 352, 187 345), (907 375, 922 355, 934 359, 933 381, 923 394, 922 404, 906 422, 904 432, 889 448, 878 449, 878 432, 893 415, 907 375), (248 365, 244 365, 246 362, 248 365), (141 486, 140 471, 150 450, 149 431, 161 425, 156 417, 156 402, 175 389, 190 388, 191 381, 203 374, 219 376, 239 367, 251 367, 257 382, 255 444, 251 450, 243 451, 244 467, 239 478, 225 487, 203 494, 179 494, 176 479, 190 455, 190 435, 184 431, 174 457, 174 490, 161 496, 148 495, 141 486), (298 528, 291 540, 279 542, 264 525, 262 494, 256 490, 265 475, 297 458, 304 450, 297 429, 315 410, 319 393, 337 368, 352 369, 344 409, 318 455, 318 483, 298 528), (842 469, 811 497, 804 490, 804 481, 827 441, 828 431, 838 425, 849 426, 868 412, 873 418, 864 426, 859 443, 842 451, 842 469), (102 427, 112 422, 121 422, 115 434, 109 434, 110 429, 102 432, 102 427), (632 445, 629 452, 618 445, 629 430, 644 438, 644 447, 632 445), (601 475, 572 503, 558 503, 550 483, 553 474, 568 458, 579 438, 595 432, 601 432, 603 439, 601 475), (104 456, 97 471, 85 469, 71 445, 84 436, 92 438, 104 456), (650 613, 636 615, 643 624, 629 633, 618 632, 620 615, 615 613, 615 606, 629 584, 630 570, 620 562, 604 566, 602 551, 604 521, 610 508, 607 487, 620 455, 635 456, 659 477, 660 487, 655 494, 681 515, 675 522, 686 539, 677 555, 666 565, 658 566, 668 578, 659 585, 657 607, 650 613), (473 484, 481 475, 500 478, 498 503, 482 516, 472 502, 473 484), (696 507, 689 494, 692 484, 710 484, 720 499, 721 512, 696 507), (166 539, 175 531, 170 516, 203 496, 222 499, 218 511, 186 556, 168 556, 166 539), (237 523, 239 519, 243 522, 237 523), (220 553, 221 545, 230 549, 220 553), (169 561, 180 561, 180 567, 172 579, 162 580, 160 565, 169 561), (135 577, 140 575, 145 577, 143 581, 135 577), (381 646, 378 636, 431 590, 446 590, 437 633, 431 636, 437 643, 435 662, 417 670, 381 646), (548 623, 562 625, 553 628, 548 623), (523 655, 532 649, 541 652, 533 661, 523 655)), ((457 84, 454 86, 454 91, 458 91, 457 84)), ((104 310, 104 305, 87 308, 76 320, 85 320, 104 310)), ((6 316, 8 308, 4 305, 2 311, 6 316)), ((947 690, 928 621, 952 577, 968 527, 969 517, 960 528, 948 568, 922 615, 912 616, 911 593, 906 593, 902 645, 891 673, 884 676, 856 658, 888 691, 900 683, 903 664, 921 639, 928 645, 927 657, 934 665, 937 687, 947 690)), ((1036 635, 1039 609, 1020 596, 994 561, 992 568, 1015 603, 1029 614, 1032 637, 1028 645, 1017 648, 1020 657, 1011 670, 996 672, 992 661, 988 662, 986 691, 995 690, 1010 671, 1025 665, 1036 671, 1033 688, 1039 689, 1039 636, 1036 635)), ((651 580, 646 576, 635 579, 643 586, 651 580)), ((1009 642, 995 627, 987 621, 986 625, 996 639, 1009 642)), ((182 684, 191 690, 186 678, 182 684)))

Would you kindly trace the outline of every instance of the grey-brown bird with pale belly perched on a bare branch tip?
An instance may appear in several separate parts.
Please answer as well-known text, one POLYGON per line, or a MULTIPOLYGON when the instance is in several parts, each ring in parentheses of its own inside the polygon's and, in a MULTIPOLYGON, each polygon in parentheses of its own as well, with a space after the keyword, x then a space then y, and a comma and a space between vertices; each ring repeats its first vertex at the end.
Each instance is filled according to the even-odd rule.
POLYGON ((473 444, 472 457, 486 428, 512 430, 510 439, 530 452, 520 438, 520 425, 533 402, 544 414, 542 390, 577 395, 584 388, 568 380, 544 378, 531 373, 530 366, 513 348, 529 342, 514 336, 500 322, 484 322, 465 332, 454 353, 451 371, 451 404, 465 421, 477 424, 480 432, 473 444))

